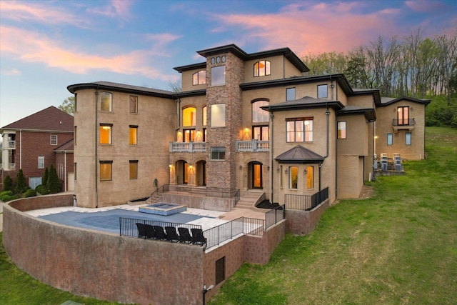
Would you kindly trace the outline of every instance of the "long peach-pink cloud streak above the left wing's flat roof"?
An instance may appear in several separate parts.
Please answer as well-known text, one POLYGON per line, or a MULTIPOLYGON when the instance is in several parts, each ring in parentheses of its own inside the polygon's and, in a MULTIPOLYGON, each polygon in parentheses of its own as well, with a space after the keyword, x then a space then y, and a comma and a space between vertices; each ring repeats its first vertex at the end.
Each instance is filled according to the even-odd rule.
POLYGON ((161 56, 165 55, 161 41, 153 41, 151 48, 147 50, 103 56, 71 50, 66 44, 60 45, 49 37, 32 31, 1 26, 0 33, 0 51, 24 62, 37 62, 74 74, 104 70, 120 74, 139 74, 151 79, 169 80, 173 77, 152 68, 154 63, 151 63, 151 60, 160 61, 161 56))

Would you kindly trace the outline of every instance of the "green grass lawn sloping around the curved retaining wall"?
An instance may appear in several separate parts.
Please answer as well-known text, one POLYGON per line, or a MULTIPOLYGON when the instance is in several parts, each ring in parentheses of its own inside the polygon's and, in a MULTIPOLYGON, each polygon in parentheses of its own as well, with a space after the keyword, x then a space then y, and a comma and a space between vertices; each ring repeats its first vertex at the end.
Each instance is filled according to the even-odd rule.
MULTIPOLYGON (((340 201, 265 266, 243 264, 209 304, 457 304, 457 130, 426 129, 428 159, 340 201)), ((0 234, 1 239, 1 234, 0 234)), ((0 247, 0 304, 110 304, 39 283, 0 247)))

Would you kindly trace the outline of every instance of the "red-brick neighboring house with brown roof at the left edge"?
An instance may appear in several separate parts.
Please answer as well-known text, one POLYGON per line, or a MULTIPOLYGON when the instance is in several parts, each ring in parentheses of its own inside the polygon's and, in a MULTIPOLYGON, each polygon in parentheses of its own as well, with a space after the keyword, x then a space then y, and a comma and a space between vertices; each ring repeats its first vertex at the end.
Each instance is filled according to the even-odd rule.
POLYGON ((27 185, 34 189, 41 184, 44 169, 51 164, 63 182, 64 191, 73 186, 74 118, 64 111, 50 106, 26 116, 24 119, 3 126, 1 147, 1 183, 6 175, 16 181, 16 174, 22 169, 27 185), (62 154, 63 156, 59 156, 62 154), (71 183, 68 176, 71 176, 71 183))

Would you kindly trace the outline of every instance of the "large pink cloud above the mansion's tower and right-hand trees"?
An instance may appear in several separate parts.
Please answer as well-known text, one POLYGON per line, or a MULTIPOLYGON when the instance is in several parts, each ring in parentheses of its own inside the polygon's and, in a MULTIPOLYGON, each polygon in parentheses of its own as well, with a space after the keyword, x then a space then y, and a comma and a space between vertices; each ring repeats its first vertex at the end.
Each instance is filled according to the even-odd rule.
MULTIPOLYGON (((291 4, 277 14, 217 15, 224 26, 241 26, 243 44, 258 41, 266 49, 290 47, 299 56, 329 51, 348 51, 376 39, 380 31, 396 31, 395 9, 358 14, 361 3, 331 2, 316 5, 291 4)), ((214 29, 222 31, 224 26, 214 29)))

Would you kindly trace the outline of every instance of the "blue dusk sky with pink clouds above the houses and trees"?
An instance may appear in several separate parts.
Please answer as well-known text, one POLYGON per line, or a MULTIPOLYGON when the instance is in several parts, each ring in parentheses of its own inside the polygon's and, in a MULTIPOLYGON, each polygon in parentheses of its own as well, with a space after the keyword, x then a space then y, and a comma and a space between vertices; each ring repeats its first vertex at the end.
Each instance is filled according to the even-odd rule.
POLYGON ((170 90, 196 51, 288 46, 298 56, 455 31, 457 1, 0 1, 0 126, 59 106, 66 86, 170 90))

